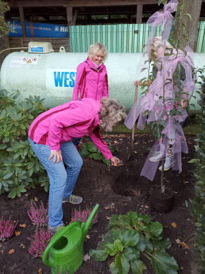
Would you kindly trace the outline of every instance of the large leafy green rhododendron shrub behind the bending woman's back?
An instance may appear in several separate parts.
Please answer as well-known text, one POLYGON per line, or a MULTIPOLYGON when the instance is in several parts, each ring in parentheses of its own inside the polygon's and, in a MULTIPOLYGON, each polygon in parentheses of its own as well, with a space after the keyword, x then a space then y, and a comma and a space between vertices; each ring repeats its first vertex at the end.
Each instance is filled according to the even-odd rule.
POLYGON ((20 197, 26 187, 35 187, 41 182, 49 189, 46 171, 33 153, 27 131, 31 122, 44 111, 40 97, 26 98, 16 103, 19 93, 9 95, 0 90, 0 195, 8 192, 8 197, 20 197))

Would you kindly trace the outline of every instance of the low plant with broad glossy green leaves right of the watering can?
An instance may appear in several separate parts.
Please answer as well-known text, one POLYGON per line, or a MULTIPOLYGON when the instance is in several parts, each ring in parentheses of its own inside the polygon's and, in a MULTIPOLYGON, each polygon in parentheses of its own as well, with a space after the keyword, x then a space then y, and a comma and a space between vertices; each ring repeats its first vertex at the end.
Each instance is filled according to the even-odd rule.
POLYGON ((107 229, 97 249, 90 249, 89 254, 100 262, 114 256, 109 265, 112 274, 128 274, 130 269, 133 274, 143 273, 141 253, 150 260, 154 273, 177 273, 176 260, 165 252, 172 242, 164 237, 163 225, 151 221, 150 216, 131 211, 126 215, 115 214, 107 229))

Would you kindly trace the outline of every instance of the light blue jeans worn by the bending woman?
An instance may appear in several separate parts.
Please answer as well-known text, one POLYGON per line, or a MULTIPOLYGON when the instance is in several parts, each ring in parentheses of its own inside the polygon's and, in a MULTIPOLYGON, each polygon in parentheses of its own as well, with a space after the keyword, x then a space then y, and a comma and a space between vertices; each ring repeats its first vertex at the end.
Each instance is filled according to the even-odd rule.
POLYGON ((49 227, 63 225, 62 201, 70 197, 75 182, 81 170, 83 160, 72 141, 61 145, 62 162, 54 163, 49 160, 51 150, 49 145, 40 145, 29 138, 31 147, 46 169, 50 179, 49 189, 49 227), (65 169, 64 162, 67 165, 65 169))

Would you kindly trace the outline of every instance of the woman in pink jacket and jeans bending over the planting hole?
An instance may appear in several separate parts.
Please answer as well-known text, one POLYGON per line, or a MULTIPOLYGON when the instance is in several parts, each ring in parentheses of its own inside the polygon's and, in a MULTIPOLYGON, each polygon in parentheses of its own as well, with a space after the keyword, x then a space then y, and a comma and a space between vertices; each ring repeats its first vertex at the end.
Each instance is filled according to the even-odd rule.
POLYGON ((64 225, 62 203, 83 201, 81 197, 72 195, 83 164, 72 138, 89 134, 100 152, 116 166, 120 160, 113 157, 100 136, 100 129, 111 132, 113 126, 125 117, 124 106, 115 99, 96 101, 84 98, 47 110, 31 123, 29 142, 50 179, 49 229, 53 234, 64 225))

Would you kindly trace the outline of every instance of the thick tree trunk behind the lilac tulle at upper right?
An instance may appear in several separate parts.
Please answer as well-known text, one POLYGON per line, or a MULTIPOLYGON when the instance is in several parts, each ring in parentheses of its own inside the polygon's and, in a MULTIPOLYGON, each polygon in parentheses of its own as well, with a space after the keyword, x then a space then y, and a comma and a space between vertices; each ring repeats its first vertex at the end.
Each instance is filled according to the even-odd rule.
MULTIPOLYGON (((182 14, 190 14, 191 21, 187 16, 184 16, 184 24, 187 27, 188 41, 186 38, 182 37, 182 27, 178 26, 176 33, 176 39, 179 40, 179 48, 184 49, 185 46, 189 45, 193 51, 197 49, 197 34, 198 25, 200 19, 200 12, 202 8, 202 0, 178 0, 179 6, 186 4, 182 9, 182 14)), ((180 15, 182 15, 180 14, 180 15)))

